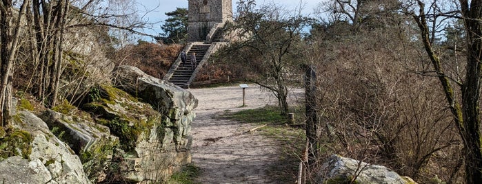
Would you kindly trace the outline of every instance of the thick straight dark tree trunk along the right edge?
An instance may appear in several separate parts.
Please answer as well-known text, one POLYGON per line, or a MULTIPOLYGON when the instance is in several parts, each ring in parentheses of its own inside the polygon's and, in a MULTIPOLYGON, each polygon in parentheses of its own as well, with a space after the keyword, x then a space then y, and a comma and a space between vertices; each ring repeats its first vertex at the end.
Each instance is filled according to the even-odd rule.
POLYGON ((481 89, 481 51, 482 51, 482 1, 472 2, 470 12, 464 16, 467 29, 468 58, 465 74, 465 84, 462 88, 463 131, 462 139, 465 147, 465 177, 466 183, 482 183, 482 153, 480 133, 480 89, 481 89))

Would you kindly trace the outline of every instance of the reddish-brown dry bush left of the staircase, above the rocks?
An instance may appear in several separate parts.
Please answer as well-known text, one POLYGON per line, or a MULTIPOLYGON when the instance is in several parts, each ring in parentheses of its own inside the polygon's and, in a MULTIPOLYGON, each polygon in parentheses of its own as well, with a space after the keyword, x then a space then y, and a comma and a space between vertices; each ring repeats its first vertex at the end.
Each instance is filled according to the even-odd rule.
POLYGON ((155 78, 163 78, 176 60, 183 45, 160 45, 157 43, 140 42, 129 45, 114 54, 116 65, 131 65, 138 67, 155 78))

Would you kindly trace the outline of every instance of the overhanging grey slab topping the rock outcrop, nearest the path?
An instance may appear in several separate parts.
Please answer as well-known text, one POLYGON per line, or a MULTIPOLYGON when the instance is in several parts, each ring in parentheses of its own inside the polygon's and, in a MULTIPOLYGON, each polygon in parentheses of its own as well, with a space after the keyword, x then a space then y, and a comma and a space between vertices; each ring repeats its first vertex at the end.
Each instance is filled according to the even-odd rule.
POLYGON ((170 82, 154 78, 137 67, 119 66, 114 69, 114 82, 117 87, 143 102, 163 115, 162 121, 173 127, 177 149, 188 148, 190 124, 196 114, 197 99, 189 91, 170 82))

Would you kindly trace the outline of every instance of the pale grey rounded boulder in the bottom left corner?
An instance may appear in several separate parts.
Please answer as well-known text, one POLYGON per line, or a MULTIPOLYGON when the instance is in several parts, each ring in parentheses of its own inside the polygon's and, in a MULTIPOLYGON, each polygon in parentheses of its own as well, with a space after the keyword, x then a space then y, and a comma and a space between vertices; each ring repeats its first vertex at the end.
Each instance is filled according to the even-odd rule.
MULTIPOLYGON (((82 163, 65 143, 57 139, 45 122, 28 111, 18 111, 13 117, 16 133, 30 137, 22 157, 0 161, 0 181, 3 183, 90 183, 82 163)), ((14 134, 13 134, 14 135, 14 134)), ((20 148, 19 148, 20 149, 20 148)))

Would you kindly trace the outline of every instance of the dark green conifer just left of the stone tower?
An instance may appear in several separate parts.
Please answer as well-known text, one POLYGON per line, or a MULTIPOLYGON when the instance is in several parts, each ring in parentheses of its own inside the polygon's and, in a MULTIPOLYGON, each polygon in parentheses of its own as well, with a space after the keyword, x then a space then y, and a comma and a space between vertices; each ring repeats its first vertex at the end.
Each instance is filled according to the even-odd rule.
POLYGON ((188 9, 176 8, 165 15, 170 17, 165 19, 161 26, 163 33, 157 39, 164 44, 185 43, 188 36, 188 9))

